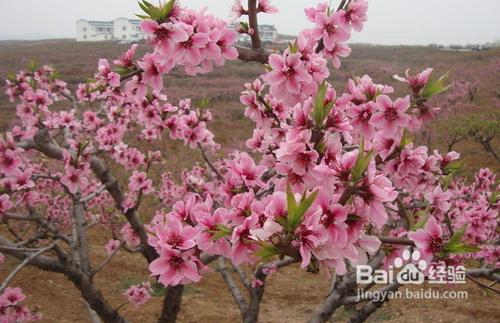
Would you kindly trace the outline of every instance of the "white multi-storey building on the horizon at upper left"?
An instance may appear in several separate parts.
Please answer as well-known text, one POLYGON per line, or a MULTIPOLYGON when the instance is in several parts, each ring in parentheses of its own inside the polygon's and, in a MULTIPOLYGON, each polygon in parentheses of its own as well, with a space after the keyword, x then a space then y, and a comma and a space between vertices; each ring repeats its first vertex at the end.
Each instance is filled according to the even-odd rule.
POLYGON ((127 18, 118 18, 113 21, 80 19, 76 22, 76 41, 139 41, 146 38, 140 23, 138 19, 127 18))

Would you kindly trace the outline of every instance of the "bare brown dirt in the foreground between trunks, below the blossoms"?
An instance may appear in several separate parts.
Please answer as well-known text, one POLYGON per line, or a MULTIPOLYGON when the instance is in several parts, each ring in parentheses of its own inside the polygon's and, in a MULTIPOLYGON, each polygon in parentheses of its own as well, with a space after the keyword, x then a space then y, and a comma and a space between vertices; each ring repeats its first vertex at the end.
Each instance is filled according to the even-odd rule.
MULTIPOLYGON (((104 243, 108 237, 98 230, 92 232, 94 263, 105 257, 104 243)), ((7 258, 0 266, 0 277, 7 274, 16 261, 7 258)), ((236 278, 236 277, 235 277, 236 278)), ((139 255, 120 251, 96 281, 104 296, 117 307, 124 302, 122 295, 130 284, 148 279, 146 263, 139 255)), ((150 278, 151 281, 154 281, 150 278)), ((77 289, 62 275, 25 268, 14 279, 13 286, 19 286, 28 296, 28 304, 38 306, 43 313, 42 322, 69 323, 90 322, 87 309, 77 289)), ((306 322, 326 295, 330 281, 322 274, 307 273, 293 265, 272 274, 268 279, 260 322, 306 322)), ((428 285, 414 287, 426 289, 428 285)), ((455 289, 467 291, 467 300, 391 300, 372 315, 369 322, 428 323, 428 322, 500 322, 500 297, 485 293, 472 282, 455 287, 432 286, 433 290, 455 289)), ((126 305, 120 313, 131 322, 156 322, 163 301, 162 290, 155 289, 155 295, 145 305, 134 308, 126 305)), ((332 322, 345 322, 349 312, 339 309, 332 322)), ((211 270, 199 284, 187 285, 179 317, 181 323, 230 323, 239 321, 239 312, 225 287, 220 274, 211 270)))

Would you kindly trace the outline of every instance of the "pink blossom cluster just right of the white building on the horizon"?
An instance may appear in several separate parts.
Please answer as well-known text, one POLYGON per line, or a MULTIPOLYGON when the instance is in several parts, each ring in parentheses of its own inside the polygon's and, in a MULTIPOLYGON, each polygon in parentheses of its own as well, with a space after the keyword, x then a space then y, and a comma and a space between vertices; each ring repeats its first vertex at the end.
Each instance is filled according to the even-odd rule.
POLYGON ((162 23, 146 19, 142 30, 150 36, 154 53, 139 62, 144 70, 143 81, 159 91, 163 86, 161 75, 174 66, 184 66, 190 75, 207 73, 215 65, 234 60, 238 52, 233 47, 236 34, 226 22, 205 13, 178 6, 162 23))

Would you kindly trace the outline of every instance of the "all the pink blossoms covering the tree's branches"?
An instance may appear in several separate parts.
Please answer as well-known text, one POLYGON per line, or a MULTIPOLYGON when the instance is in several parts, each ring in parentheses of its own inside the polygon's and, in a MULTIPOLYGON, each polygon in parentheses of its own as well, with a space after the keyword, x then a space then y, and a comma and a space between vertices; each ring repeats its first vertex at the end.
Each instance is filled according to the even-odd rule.
MULTIPOLYGON (((235 8, 245 14, 239 2, 235 8)), ((275 8, 261 0, 258 11, 275 8)), ((163 75, 174 66, 204 73, 236 58, 235 33, 203 10, 174 6, 164 21, 144 20, 154 51, 135 64, 132 46, 113 61, 116 69, 101 60, 96 82, 76 91, 77 106, 92 106, 81 114, 52 108, 71 94, 52 69, 19 73, 7 83, 9 97, 20 101, 20 126, 0 140, 0 217, 43 207, 44 219, 70 232, 72 205, 87 196, 89 225, 111 228, 113 236, 119 230, 120 240, 135 248, 144 238, 137 223, 124 224, 116 215, 138 210, 145 195, 158 198, 162 205, 147 226, 147 242, 159 257, 149 269, 165 286, 199 281, 205 255, 234 264, 289 256, 303 268, 343 275, 366 263, 387 232, 410 238, 431 261, 496 264, 498 249, 487 247, 498 240, 494 174, 481 170, 472 183, 458 179, 458 153, 430 152, 408 136, 436 116, 426 91, 439 87, 431 83, 432 69, 396 77, 409 87, 402 97, 367 75, 348 80, 345 93, 326 81, 327 60, 338 67, 339 57, 349 55, 346 41, 362 29, 366 11, 364 0, 338 11, 325 3, 307 9, 314 27, 283 54, 270 55, 267 72, 240 96, 256 125, 248 149, 213 163, 204 150, 219 148, 208 129, 211 113, 190 99, 174 105, 161 93, 163 75), (53 163, 30 150, 35 134, 61 149, 49 156, 53 163), (163 171, 162 154, 150 148, 166 134, 200 148, 208 166, 183 171, 177 184, 163 171), (107 175, 96 167, 101 155, 124 181, 101 182, 107 175), (128 191, 119 198, 105 192, 111 187, 116 197, 123 183, 128 191)), ((114 239, 105 246, 108 254, 121 246, 114 239)), ((388 246, 385 264, 403 249, 388 246)), ((254 287, 263 283, 256 279, 254 287)), ((142 304, 150 292, 144 283, 126 296, 142 304)))

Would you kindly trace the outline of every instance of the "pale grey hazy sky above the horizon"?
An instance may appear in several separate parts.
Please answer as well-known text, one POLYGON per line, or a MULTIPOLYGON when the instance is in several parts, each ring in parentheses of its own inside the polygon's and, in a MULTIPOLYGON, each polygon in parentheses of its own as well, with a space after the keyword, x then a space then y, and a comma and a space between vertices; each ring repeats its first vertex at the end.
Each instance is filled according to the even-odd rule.
MULTIPOLYGON (((155 0, 151 0, 153 3, 155 0)), ((227 18, 233 0, 181 0, 227 18)), ((303 9, 318 0, 273 0, 276 15, 259 15, 281 33, 310 27, 303 9)), ((340 0, 332 0, 337 5, 340 0)), ((465 44, 500 39, 500 0, 369 0, 368 23, 353 42, 465 44)), ((80 18, 112 20, 139 13, 135 0, 0 0, 0 39, 73 38, 80 18)))

